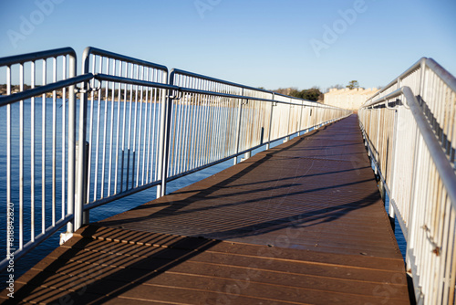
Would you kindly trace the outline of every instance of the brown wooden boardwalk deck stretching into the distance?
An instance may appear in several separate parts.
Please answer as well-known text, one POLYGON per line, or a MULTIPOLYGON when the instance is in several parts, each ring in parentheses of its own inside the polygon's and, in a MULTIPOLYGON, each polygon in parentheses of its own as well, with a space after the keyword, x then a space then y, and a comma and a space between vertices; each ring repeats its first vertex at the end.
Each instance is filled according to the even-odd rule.
POLYGON ((353 115, 79 229, 16 281, 18 300, 407 304, 409 293, 353 115))

